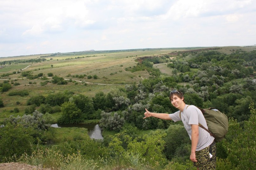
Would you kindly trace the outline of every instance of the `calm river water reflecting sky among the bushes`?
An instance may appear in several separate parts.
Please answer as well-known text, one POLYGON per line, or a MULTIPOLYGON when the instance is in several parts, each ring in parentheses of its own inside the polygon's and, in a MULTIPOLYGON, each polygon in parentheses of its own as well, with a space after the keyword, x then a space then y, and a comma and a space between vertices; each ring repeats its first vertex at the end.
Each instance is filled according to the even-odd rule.
POLYGON ((103 139, 102 130, 99 124, 52 124, 51 127, 83 127, 88 129, 88 135, 91 139, 103 139))

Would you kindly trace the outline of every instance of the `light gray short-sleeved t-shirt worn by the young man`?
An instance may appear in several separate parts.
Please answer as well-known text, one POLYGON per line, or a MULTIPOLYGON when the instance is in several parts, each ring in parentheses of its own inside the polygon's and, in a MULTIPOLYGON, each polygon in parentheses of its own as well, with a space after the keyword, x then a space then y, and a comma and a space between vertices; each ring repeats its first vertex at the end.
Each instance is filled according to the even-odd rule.
MULTIPOLYGON (((191 140, 191 124, 202 124, 206 129, 208 129, 208 126, 206 124, 206 120, 203 116, 203 113, 194 105, 189 105, 187 107, 186 105, 184 107, 183 112, 181 112, 181 118, 180 118, 180 111, 169 114, 170 118, 174 121, 181 121, 184 124, 185 129, 187 130, 187 133, 191 140)), ((199 137, 198 137, 198 143, 196 147, 196 151, 202 150, 213 143, 214 137, 212 137, 206 130, 203 128, 198 128, 199 131, 199 137)))

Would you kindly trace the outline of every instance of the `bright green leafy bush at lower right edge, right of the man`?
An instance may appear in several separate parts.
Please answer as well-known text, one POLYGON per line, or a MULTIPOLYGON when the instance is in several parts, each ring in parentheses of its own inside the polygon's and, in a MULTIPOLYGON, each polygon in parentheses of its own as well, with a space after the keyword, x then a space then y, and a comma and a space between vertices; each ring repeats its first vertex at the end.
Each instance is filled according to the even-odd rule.
POLYGON ((223 141, 228 159, 240 169, 256 168, 256 111, 253 102, 249 108, 251 116, 244 121, 244 128, 236 120, 230 119, 229 131, 223 141))

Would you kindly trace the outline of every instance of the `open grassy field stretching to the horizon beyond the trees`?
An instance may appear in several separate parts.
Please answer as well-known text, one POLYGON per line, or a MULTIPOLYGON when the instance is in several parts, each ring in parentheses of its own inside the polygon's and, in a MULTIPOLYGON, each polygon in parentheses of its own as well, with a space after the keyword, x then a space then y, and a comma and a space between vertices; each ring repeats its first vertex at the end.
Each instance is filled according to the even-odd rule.
MULTIPOLYGON (((14 116, 23 115, 26 107, 26 101, 34 95, 48 94, 63 92, 64 90, 73 91, 75 94, 84 94, 89 97, 94 97, 97 92, 115 91, 118 88, 123 88, 125 84, 139 83, 141 80, 148 78, 150 75, 147 71, 130 72, 126 68, 133 67, 137 64, 136 58, 144 56, 158 56, 164 55, 175 51, 185 51, 192 49, 200 49, 207 47, 193 47, 193 48, 161 48, 161 49, 135 49, 123 51, 96 51, 96 52, 69 52, 60 53, 56 56, 52 54, 41 54, 31 56, 19 56, 0 58, 0 62, 6 65, 0 69, 0 76, 3 74, 12 74, 13 72, 30 71, 32 75, 43 73, 47 76, 48 73, 53 73, 55 76, 63 77, 67 80, 72 79, 67 85, 57 85, 48 83, 41 86, 41 78, 29 80, 22 77, 21 74, 12 74, 10 76, 1 76, 0 83, 9 81, 12 83, 12 88, 8 92, 0 94, 3 100, 4 107, 0 108, 0 119, 8 117, 13 114, 14 116), (13 60, 21 59, 38 59, 42 56, 46 61, 33 62, 33 63, 19 63, 13 64, 13 60), (9 61, 11 64, 9 65, 9 61), (51 66, 52 65, 52 66, 51 66), (86 75, 83 78, 78 78, 79 75, 86 75), (88 79, 87 76, 96 75, 98 78, 88 79), (75 80, 75 81, 74 81, 75 80), (18 85, 18 84, 19 85, 18 85), (15 85, 16 84, 16 85, 15 85), (13 91, 27 90, 28 96, 9 96, 8 94, 13 91), (17 104, 17 102, 19 104, 17 104), (19 109, 19 113, 10 113, 14 107, 19 109)), ((255 50, 252 47, 220 47, 220 52, 232 53, 233 49, 242 49, 245 51, 255 50)), ((154 68, 161 71, 161 76, 171 76, 172 69, 167 67, 167 64, 155 64, 154 68)), ((48 79, 51 81, 51 78, 48 79)))

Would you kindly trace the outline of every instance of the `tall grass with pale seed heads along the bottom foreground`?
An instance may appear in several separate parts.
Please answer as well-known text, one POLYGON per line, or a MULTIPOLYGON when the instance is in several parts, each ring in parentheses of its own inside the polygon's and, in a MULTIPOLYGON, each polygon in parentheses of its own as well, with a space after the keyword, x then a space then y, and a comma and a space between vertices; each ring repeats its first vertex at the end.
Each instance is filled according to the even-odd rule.
MULTIPOLYGON (((9 159, 9 161, 11 158, 9 159)), ((151 167, 139 155, 125 154, 115 157, 99 157, 96 160, 85 159, 78 151, 72 155, 63 155, 54 148, 36 149, 31 155, 24 153, 16 160, 25 164, 50 168, 53 170, 157 170, 161 167, 151 167)))

